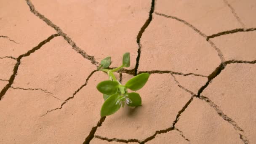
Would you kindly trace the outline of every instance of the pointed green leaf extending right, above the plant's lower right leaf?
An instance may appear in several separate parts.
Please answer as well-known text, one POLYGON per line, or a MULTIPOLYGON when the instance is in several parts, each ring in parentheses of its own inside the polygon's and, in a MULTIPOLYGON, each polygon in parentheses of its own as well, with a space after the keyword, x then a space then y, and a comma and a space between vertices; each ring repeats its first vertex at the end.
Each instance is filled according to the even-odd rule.
POLYGON ((148 78, 149 78, 148 73, 139 74, 131 78, 130 80, 128 80, 128 82, 125 84, 125 87, 133 91, 137 91, 147 83, 148 78))

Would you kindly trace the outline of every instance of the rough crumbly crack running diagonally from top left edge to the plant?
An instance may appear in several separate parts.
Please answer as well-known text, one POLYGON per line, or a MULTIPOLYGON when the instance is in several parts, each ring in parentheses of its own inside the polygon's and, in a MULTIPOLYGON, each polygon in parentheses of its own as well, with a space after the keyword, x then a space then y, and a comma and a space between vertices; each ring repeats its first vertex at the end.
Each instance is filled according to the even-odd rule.
POLYGON ((64 33, 57 25, 53 24, 53 22, 51 20, 49 20, 48 18, 46 18, 44 15, 42 15, 41 13, 39 13, 37 10, 35 10, 34 5, 31 3, 30 0, 26 0, 27 4, 30 8, 30 11, 35 14, 35 16, 39 17, 39 19, 43 20, 48 26, 52 27, 53 29, 56 30, 56 32, 61 35, 64 40, 66 40, 69 45, 72 46, 72 48, 77 51, 77 53, 80 53, 85 59, 88 59, 91 61, 92 64, 96 65, 97 67, 99 66, 99 62, 96 61, 94 59, 94 56, 90 56, 88 55, 85 51, 83 51, 81 48, 79 48, 76 43, 69 37, 67 36, 66 33, 64 33))

